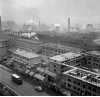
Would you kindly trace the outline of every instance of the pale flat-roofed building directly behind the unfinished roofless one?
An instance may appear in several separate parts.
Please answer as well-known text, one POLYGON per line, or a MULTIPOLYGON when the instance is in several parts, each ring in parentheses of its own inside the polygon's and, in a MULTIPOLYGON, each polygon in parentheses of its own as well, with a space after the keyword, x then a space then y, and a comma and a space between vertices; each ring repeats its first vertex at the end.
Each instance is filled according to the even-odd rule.
POLYGON ((50 57, 50 71, 57 74, 61 74, 66 70, 72 69, 72 66, 80 66, 82 64, 83 58, 84 56, 81 53, 72 52, 50 57))

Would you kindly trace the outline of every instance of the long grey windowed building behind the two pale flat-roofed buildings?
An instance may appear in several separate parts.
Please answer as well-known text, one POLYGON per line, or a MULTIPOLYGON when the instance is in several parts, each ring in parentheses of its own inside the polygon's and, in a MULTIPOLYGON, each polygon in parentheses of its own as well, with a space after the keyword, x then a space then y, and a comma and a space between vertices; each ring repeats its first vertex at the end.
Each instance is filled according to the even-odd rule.
POLYGON ((81 52, 81 49, 53 43, 45 43, 41 46, 41 54, 49 57, 64 54, 67 52, 81 52))

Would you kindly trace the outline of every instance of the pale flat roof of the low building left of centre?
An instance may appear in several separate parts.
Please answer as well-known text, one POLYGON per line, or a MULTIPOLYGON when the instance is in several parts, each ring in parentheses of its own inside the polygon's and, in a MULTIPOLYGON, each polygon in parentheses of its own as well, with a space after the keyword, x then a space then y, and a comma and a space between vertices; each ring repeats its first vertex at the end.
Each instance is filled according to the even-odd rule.
POLYGON ((40 55, 36 54, 36 53, 33 53, 33 52, 28 52, 26 50, 16 50, 13 52, 14 54, 16 55, 19 55, 19 56, 23 56, 23 57, 26 57, 26 58, 36 58, 36 57, 40 57, 40 55))

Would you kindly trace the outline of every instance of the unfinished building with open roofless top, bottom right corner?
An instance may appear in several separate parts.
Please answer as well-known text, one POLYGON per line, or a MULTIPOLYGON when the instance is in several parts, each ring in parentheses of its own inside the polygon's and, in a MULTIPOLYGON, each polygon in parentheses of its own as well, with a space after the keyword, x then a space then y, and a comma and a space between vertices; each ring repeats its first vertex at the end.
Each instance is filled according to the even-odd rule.
POLYGON ((65 87, 79 95, 99 96, 100 75, 88 70, 75 68, 63 73, 65 87))

